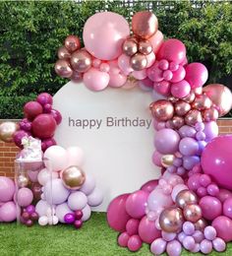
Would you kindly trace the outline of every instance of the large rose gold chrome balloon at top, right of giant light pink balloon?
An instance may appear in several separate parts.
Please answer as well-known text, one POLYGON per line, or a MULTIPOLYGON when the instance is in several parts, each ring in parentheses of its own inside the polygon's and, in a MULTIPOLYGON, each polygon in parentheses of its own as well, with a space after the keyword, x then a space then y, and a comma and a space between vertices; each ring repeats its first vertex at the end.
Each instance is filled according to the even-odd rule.
POLYGON ((158 20, 150 12, 138 12, 132 18, 132 31, 141 38, 147 39, 158 30, 158 20))

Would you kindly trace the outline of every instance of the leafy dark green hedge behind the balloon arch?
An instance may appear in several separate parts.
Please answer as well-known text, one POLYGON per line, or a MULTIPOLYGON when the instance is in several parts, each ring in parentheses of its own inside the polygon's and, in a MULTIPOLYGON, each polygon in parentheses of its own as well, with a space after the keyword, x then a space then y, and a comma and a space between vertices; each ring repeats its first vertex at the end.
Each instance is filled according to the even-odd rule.
POLYGON ((54 73, 57 48, 68 34, 82 37, 87 18, 105 8, 129 20, 151 9, 160 31, 183 40, 190 61, 206 64, 208 82, 231 75, 232 5, 225 1, 0 2, 0 118, 21 117, 26 96, 55 94, 67 83, 54 73))

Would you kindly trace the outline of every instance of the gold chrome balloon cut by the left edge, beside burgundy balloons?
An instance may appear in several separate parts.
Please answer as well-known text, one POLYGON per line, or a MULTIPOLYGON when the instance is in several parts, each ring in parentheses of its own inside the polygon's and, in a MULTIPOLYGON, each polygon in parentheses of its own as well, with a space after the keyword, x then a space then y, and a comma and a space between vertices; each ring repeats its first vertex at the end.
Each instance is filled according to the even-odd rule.
POLYGON ((0 124, 0 141, 13 142, 14 133, 20 129, 19 124, 15 122, 3 122, 0 124))

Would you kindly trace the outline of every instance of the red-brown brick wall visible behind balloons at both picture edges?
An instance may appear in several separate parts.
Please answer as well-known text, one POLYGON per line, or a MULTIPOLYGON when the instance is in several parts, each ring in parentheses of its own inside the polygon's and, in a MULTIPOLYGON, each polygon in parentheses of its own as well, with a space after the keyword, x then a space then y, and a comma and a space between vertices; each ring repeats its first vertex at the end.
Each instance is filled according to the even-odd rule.
MULTIPOLYGON (((218 120, 220 134, 232 133, 232 119, 218 120)), ((0 176, 14 178, 14 160, 19 149, 14 143, 0 142, 0 176)))

